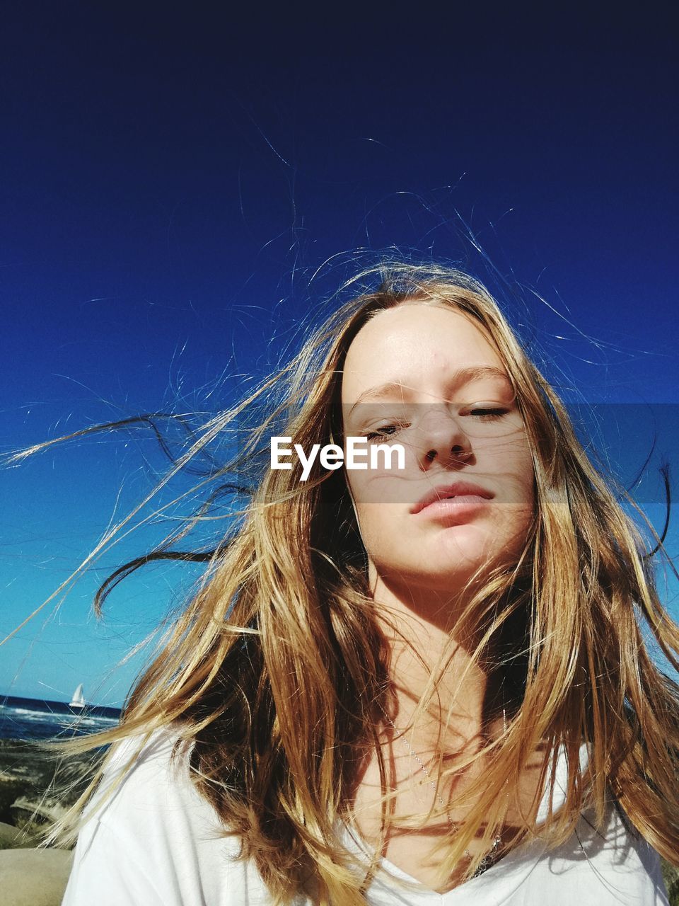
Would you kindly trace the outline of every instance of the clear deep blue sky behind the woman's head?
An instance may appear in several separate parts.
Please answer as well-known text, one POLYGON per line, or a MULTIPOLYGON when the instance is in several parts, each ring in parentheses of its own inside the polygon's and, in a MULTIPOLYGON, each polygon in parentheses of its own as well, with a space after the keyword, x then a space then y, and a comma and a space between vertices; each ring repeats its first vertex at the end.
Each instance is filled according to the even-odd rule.
MULTIPOLYGON (((2 449, 139 411, 226 405, 233 380, 208 399, 206 388, 266 369, 339 282, 327 271, 308 292, 330 255, 399 246, 486 278, 464 222, 505 297, 522 287, 510 309, 548 376, 569 400, 606 404, 596 411, 619 474, 634 477, 657 431, 641 496, 662 525, 657 467, 663 455, 679 465, 670 14, 8 8, 2 449)), ((137 432, 0 472, 1 630, 150 487, 147 460, 161 462, 137 432)), ((103 624, 91 595, 164 528, 130 535, 8 643, 0 692, 64 699, 84 682, 89 699, 120 703, 139 656, 113 668, 199 571, 141 571, 103 624)), ((670 583, 677 615, 675 595, 670 583)))

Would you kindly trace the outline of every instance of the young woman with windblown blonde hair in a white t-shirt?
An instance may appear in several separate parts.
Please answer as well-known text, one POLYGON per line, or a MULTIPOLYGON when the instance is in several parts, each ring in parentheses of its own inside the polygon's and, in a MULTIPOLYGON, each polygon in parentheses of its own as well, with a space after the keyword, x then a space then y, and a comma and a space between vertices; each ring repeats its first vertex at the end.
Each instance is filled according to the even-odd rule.
POLYGON ((679 688, 642 624, 675 669, 679 631, 642 535, 483 286, 387 270, 192 448, 279 392, 239 468, 273 436, 290 467, 79 743, 115 745, 63 906, 667 902, 679 688))

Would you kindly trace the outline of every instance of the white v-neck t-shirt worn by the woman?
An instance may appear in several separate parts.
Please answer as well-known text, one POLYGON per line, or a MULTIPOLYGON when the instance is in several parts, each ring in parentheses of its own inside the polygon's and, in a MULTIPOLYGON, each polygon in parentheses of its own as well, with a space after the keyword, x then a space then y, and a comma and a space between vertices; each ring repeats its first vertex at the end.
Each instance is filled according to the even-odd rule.
MULTIPOLYGON (((170 765, 175 738, 167 731, 154 734, 116 793, 84 825, 62 906, 269 906, 259 872, 252 862, 235 860, 238 841, 219 836, 213 807, 191 783, 188 747, 170 765)), ((138 745, 126 740, 116 747, 96 795, 138 745)), ((563 802, 563 796, 556 799, 565 770, 564 757, 557 768, 554 810, 563 802)), ((549 786, 539 820, 548 798, 549 786)), ((353 852, 367 852, 346 825, 342 834, 353 852)), ((521 843, 479 877, 447 893, 430 890, 382 859, 367 897, 371 906, 667 904, 657 853, 612 806, 602 834, 582 817, 569 842, 551 853, 543 843, 521 843), (415 890, 396 884, 394 877, 411 882, 415 890)), ((300 894, 296 903, 310 906, 311 899, 300 894)))

